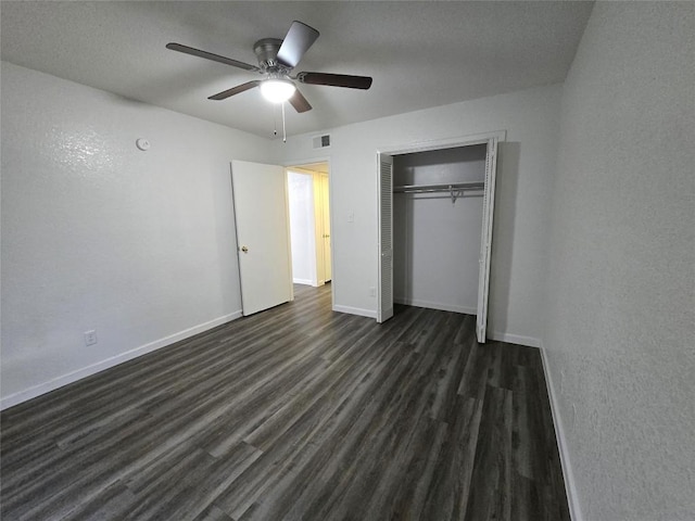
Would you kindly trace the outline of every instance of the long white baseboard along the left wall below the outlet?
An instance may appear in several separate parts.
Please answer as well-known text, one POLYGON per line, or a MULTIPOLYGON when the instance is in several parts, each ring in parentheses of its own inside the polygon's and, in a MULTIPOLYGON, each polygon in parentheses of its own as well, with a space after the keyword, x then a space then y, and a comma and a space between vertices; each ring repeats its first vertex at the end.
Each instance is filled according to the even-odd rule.
POLYGON ((104 369, 109 369, 110 367, 117 366, 118 364, 123 364, 124 361, 131 360, 132 358, 137 358, 138 356, 142 356, 152 351, 165 347, 180 340, 188 339, 189 336, 202 333, 203 331, 216 328, 217 326, 222 326, 223 323, 229 322, 240 317, 241 310, 230 313, 229 315, 215 318, 207 322, 185 329, 184 331, 169 334, 168 336, 164 336, 163 339, 155 340, 154 342, 150 342, 139 347, 135 347, 130 351, 126 351, 125 353, 112 356, 110 358, 106 358, 105 360, 98 361, 97 364, 83 367, 81 369, 77 369, 76 371, 72 371, 67 374, 63 374, 61 377, 49 380, 48 382, 39 383, 38 385, 33 385, 31 387, 25 389, 24 391, 4 396, 2 399, 0 399, 0 410, 21 404, 22 402, 26 402, 27 399, 35 398, 37 396, 40 396, 41 394, 55 391, 63 385, 67 385, 68 383, 76 382, 77 380, 81 380, 83 378, 90 377, 92 374, 96 374, 97 372, 103 371, 104 369))

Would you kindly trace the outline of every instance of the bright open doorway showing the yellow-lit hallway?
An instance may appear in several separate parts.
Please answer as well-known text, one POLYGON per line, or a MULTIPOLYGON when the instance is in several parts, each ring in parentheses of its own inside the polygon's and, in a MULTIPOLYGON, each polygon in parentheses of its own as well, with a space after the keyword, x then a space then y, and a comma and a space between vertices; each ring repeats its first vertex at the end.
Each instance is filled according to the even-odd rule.
POLYGON ((329 164, 288 166, 287 176, 292 281, 320 287, 333 277, 329 164))

